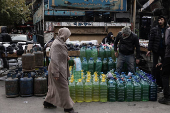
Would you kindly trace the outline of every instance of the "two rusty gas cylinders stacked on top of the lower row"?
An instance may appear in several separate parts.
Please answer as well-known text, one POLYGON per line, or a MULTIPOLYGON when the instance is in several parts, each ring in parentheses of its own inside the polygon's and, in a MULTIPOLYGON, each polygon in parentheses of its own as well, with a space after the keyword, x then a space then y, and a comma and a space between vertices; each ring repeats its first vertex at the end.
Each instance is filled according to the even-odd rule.
POLYGON ((35 68, 44 66, 44 53, 42 48, 34 46, 32 49, 27 50, 25 48, 24 54, 22 54, 22 70, 23 71, 34 71, 35 68))

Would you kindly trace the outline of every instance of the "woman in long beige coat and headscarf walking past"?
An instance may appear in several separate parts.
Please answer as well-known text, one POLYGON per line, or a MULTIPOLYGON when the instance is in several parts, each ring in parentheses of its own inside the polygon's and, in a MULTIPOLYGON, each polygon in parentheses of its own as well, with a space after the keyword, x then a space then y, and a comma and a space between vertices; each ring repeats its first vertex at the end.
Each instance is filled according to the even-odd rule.
POLYGON ((61 28, 58 36, 51 45, 51 62, 48 67, 48 93, 44 101, 44 108, 64 108, 65 113, 77 113, 68 88, 68 52, 65 41, 71 35, 68 28, 61 28))

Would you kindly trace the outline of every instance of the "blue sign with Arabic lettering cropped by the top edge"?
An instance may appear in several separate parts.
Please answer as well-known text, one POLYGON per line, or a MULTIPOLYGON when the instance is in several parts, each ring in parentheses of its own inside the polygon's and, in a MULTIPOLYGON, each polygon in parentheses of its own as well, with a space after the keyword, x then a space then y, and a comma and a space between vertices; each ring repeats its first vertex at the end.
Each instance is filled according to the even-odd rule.
POLYGON ((126 11, 127 0, 49 0, 50 6, 100 11, 126 11))

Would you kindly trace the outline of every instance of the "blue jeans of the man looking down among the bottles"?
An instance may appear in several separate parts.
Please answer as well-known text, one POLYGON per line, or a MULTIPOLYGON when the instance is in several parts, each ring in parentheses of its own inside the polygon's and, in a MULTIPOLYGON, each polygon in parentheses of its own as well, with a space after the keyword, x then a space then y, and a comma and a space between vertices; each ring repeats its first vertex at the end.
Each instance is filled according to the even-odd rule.
POLYGON ((123 54, 119 53, 119 56, 117 58, 117 65, 116 65, 116 72, 118 72, 119 74, 121 74, 124 63, 127 64, 128 71, 135 74, 135 66, 134 66, 135 56, 134 56, 134 54, 123 55, 123 54))

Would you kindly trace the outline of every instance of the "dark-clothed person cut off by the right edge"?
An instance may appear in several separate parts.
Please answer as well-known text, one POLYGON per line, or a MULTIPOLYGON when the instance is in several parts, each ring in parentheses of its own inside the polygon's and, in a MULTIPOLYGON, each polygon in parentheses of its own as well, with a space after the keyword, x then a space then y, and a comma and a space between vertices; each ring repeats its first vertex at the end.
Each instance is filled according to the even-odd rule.
POLYGON ((165 59, 162 66, 162 84, 164 97, 158 100, 161 104, 170 104, 169 93, 169 76, 170 76, 170 19, 168 20, 169 28, 166 29, 165 34, 165 59))

